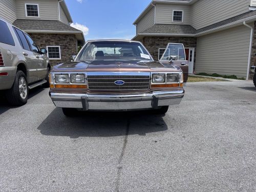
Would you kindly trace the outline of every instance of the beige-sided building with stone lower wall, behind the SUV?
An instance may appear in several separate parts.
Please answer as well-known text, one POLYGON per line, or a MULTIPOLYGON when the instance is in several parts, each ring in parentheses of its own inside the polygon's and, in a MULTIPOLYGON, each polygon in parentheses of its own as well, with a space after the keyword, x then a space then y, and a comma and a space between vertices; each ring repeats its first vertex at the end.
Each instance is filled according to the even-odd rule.
POLYGON ((70 26, 65 0, 0 0, 0 17, 46 48, 51 65, 69 61, 84 44, 83 32, 70 26))

